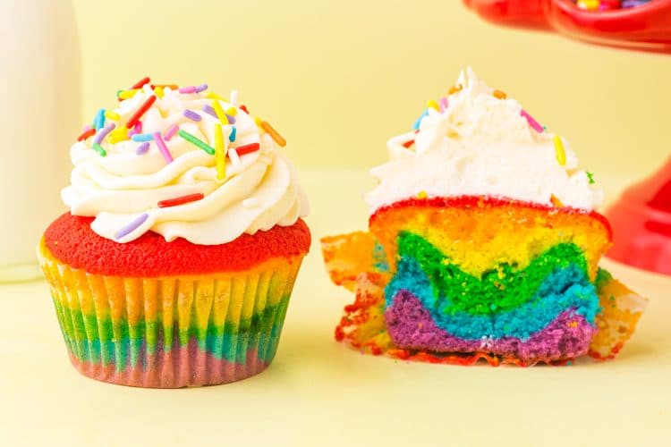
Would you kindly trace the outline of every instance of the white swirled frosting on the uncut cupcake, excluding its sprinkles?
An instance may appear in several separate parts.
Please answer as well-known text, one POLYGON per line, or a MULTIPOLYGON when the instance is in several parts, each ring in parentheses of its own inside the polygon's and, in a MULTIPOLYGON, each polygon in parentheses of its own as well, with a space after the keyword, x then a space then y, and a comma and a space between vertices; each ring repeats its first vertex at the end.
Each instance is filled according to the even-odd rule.
MULTIPOLYGON (((161 132, 173 124, 215 146, 217 118, 203 112, 212 99, 201 94, 180 94, 165 90, 163 98, 143 115, 141 133, 161 132), (200 122, 183 115, 184 110, 200 114, 200 122)), ((114 111, 121 115, 116 126, 125 126, 132 114, 151 95, 149 86, 134 97, 122 101, 114 111)), ((234 102, 237 94, 234 94, 234 102)), ((224 110, 231 104, 220 101, 224 110)), ((237 105, 237 104, 235 104, 237 105)), ((275 225, 293 225, 308 214, 308 200, 298 185, 293 165, 280 153, 275 141, 259 131, 253 118, 237 109, 235 123, 224 126, 225 143, 236 148, 258 142, 260 149, 226 159, 224 180, 217 180, 215 156, 208 155, 175 134, 166 141, 174 161, 166 163, 156 143, 137 155, 140 142, 124 140, 101 144, 106 156, 91 147, 93 138, 72 146, 71 186, 62 198, 72 215, 95 216, 91 228, 100 236, 118 242, 139 238, 149 230, 167 241, 182 237, 192 243, 216 245, 236 239, 242 233, 254 234, 275 225), (229 143, 234 125, 237 136, 229 143), (204 198, 175 207, 158 207, 161 200, 202 193, 204 198), (144 223, 116 239, 126 225, 147 214, 144 223)), ((109 121, 108 121, 109 122, 109 121)), ((230 152, 229 152, 230 154, 230 152)))

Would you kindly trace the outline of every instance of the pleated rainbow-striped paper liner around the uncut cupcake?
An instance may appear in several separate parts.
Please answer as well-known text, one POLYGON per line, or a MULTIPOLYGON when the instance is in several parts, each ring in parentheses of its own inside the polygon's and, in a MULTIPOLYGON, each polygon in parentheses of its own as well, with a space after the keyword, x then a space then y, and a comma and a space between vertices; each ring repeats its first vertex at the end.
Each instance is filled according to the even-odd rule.
POLYGON ((72 365, 113 384, 178 388, 256 375, 275 357, 302 256, 246 272, 89 274, 40 246, 72 365))

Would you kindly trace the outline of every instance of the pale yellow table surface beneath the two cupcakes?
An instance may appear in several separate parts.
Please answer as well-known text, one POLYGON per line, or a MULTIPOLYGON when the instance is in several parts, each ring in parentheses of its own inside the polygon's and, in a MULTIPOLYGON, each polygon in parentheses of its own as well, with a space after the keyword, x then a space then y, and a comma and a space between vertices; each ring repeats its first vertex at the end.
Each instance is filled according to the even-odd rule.
MULTIPOLYGON (((44 282, 0 286, 0 445, 671 445, 671 278, 605 260, 650 298, 615 361, 453 367, 375 358, 333 338, 352 295, 318 239, 363 228, 361 171, 302 170, 314 236, 276 358, 248 380, 150 390, 69 364, 44 282)), ((607 191, 622 179, 601 179, 607 191)))

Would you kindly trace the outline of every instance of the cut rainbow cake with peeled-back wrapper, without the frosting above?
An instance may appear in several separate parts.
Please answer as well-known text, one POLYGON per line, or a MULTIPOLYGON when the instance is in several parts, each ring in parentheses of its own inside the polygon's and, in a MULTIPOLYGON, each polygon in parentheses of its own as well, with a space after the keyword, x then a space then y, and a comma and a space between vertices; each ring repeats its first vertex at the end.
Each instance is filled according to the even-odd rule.
POLYGON ((519 365, 609 357, 640 316, 642 299, 628 290, 607 297, 605 311, 601 291, 614 280, 598 262, 612 235, 597 213, 414 198, 380 208, 369 230, 323 247, 334 281, 357 291, 336 337, 373 353, 519 365), (616 323, 615 303, 626 309, 616 323), (594 345, 607 325, 624 330, 594 345))

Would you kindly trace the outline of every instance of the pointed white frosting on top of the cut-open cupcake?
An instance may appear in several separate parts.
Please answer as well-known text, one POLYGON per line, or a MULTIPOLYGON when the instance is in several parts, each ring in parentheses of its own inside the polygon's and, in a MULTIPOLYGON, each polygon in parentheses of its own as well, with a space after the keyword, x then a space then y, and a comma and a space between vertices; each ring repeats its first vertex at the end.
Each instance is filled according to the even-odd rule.
POLYGON ((370 214, 396 201, 428 197, 493 196, 584 210, 599 207, 600 190, 590 186, 568 141, 559 164, 555 134, 539 133, 514 99, 498 99, 471 68, 457 80, 444 112, 429 108, 415 134, 387 143, 390 162, 370 171, 378 186, 365 196, 370 214), (403 143, 415 140, 411 148, 403 143))

